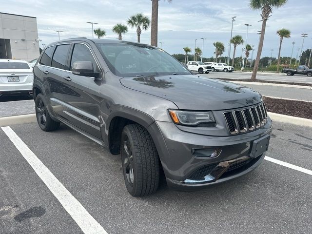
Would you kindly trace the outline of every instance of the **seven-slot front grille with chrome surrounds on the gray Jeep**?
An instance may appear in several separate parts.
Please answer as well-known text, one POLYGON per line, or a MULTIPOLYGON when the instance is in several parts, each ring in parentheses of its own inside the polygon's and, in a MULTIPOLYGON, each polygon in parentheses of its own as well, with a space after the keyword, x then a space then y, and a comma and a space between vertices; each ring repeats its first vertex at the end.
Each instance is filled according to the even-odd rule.
POLYGON ((224 117, 231 134, 252 131, 268 120, 264 103, 248 109, 224 112, 224 117))

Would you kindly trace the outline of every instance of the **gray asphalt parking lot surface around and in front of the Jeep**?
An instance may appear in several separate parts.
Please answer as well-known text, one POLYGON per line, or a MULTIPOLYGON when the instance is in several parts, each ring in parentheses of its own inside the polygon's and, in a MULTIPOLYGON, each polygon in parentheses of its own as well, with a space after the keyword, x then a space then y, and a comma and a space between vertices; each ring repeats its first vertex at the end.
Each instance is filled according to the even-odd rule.
POLYGON ((312 233, 312 129, 273 127, 266 159, 279 164, 264 160, 247 176, 197 192, 163 182, 142 198, 128 194, 119 155, 65 125, 49 133, 37 123, 12 125, 11 134, 2 128, 0 233, 312 233), (26 160, 30 151, 41 166, 26 160))

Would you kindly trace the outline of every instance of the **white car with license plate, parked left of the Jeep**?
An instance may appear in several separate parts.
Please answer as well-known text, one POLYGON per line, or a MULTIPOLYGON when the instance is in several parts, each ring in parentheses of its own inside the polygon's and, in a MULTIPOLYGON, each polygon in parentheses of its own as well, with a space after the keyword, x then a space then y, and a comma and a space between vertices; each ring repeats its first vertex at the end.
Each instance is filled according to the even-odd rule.
POLYGON ((32 95, 33 68, 28 62, 0 59, 0 97, 32 95))

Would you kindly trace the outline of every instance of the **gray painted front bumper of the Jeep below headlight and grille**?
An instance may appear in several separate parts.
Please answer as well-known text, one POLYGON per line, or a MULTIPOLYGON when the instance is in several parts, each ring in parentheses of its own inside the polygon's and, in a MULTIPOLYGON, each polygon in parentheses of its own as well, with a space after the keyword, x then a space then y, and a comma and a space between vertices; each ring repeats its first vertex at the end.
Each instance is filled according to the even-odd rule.
MULTIPOLYGON (((254 132, 228 136, 215 137, 204 136, 181 131, 172 122, 154 122, 148 128, 152 135, 163 166, 168 185, 174 188, 198 188, 202 186, 224 182, 254 170, 264 158, 262 154, 256 158, 251 155, 253 142, 259 138, 270 136, 272 133, 272 121, 268 117, 267 123, 254 132), (221 149, 216 157, 196 157, 192 150, 221 149), (194 173, 206 166, 215 166, 220 163, 237 161, 244 158, 248 163, 241 167, 222 174, 215 178, 190 179, 194 173)), ((207 175, 211 173, 207 173, 207 175)))

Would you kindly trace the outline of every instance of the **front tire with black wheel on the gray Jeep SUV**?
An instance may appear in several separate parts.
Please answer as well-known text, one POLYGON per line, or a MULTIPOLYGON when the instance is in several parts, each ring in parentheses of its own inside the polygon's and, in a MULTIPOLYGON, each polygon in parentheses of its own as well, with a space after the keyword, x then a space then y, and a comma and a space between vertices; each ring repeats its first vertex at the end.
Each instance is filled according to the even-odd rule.
POLYGON ((160 162, 152 137, 139 124, 126 125, 120 142, 122 171, 128 192, 150 195, 159 184, 160 162))

